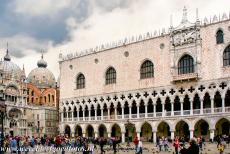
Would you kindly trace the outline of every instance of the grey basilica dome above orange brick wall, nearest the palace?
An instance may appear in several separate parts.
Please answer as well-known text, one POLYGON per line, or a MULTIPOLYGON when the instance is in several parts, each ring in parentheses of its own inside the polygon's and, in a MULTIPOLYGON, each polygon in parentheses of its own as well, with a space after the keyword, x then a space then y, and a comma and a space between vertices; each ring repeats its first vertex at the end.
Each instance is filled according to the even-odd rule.
POLYGON ((51 88, 55 87, 55 77, 53 73, 47 69, 47 62, 41 59, 37 62, 37 68, 33 69, 27 78, 28 83, 32 83, 38 88, 51 88))

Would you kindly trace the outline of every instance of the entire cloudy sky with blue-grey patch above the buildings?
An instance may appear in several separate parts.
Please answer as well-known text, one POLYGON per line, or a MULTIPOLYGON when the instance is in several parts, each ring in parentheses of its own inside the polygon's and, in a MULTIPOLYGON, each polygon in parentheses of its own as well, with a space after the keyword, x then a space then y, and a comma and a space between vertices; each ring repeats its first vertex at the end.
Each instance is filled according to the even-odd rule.
POLYGON ((58 55, 74 53, 126 36, 154 32, 180 23, 186 6, 191 22, 229 14, 229 0, 0 0, 0 57, 9 51, 26 73, 41 50, 58 76, 58 55))

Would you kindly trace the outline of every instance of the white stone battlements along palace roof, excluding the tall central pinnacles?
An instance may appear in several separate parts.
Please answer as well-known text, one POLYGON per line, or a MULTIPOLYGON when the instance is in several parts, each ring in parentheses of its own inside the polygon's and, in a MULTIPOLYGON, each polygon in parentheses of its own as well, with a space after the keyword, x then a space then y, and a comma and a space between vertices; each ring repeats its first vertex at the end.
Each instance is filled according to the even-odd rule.
MULTIPOLYGON (((227 15, 226 13, 223 13, 222 15, 219 14, 218 17, 217 17, 217 15, 210 16, 209 20, 207 17, 205 17, 201 21, 199 20, 198 13, 197 13, 197 21, 200 22, 201 27, 216 24, 219 22, 227 21, 227 20, 230 20, 230 12, 229 12, 229 15, 227 15)), ((194 23, 194 25, 195 24, 196 23, 194 23)), ((145 41, 148 39, 163 37, 165 35, 169 35, 171 30, 174 30, 174 27, 169 27, 167 30, 166 30, 166 28, 162 28, 159 30, 155 30, 154 32, 146 32, 144 34, 139 34, 136 36, 133 35, 130 37, 125 37, 125 38, 118 40, 118 41, 104 43, 104 44, 98 45, 94 48, 89 48, 89 49, 85 49, 82 51, 77 51, 75 53, 70 53, 67 55, 63 55, 62 53, 60 53, 59 54, 59 62, 68 61, 71 59, 83 57, 83 56, 90 55, 90 54, 95 54, 95 53, 98 53, 101 51, 110 50, 110 49, 126 46, 129 44, 133 44, 133 43, 138 43, 138 42, 145 41)))

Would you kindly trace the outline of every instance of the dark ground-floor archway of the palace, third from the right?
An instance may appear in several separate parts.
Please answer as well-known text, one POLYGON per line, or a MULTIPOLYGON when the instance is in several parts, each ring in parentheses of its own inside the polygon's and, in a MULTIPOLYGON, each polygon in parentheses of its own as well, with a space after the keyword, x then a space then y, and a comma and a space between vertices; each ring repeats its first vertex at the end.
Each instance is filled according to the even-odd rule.
POLYGON ((184 137, 187 141, 190 138, 189 126, 186 122, 180 121, 176 124, 176 132, 175 135, 178 137, 184 137))

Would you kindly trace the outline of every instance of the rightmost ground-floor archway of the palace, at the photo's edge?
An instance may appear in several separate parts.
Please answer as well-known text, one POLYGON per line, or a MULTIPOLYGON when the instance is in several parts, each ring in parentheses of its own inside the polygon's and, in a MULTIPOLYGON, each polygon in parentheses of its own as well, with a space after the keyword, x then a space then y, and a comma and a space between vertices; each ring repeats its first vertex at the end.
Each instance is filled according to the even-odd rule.
POLYGON ((216 135, 230 135, 230 122, 222 118, 216 123, 216 135))

